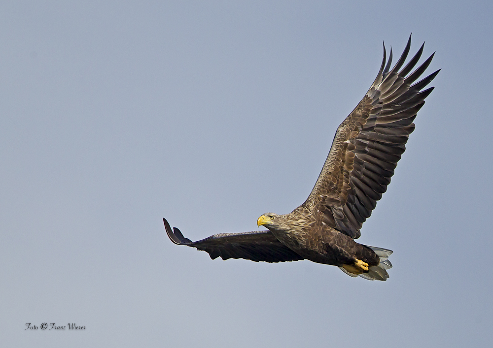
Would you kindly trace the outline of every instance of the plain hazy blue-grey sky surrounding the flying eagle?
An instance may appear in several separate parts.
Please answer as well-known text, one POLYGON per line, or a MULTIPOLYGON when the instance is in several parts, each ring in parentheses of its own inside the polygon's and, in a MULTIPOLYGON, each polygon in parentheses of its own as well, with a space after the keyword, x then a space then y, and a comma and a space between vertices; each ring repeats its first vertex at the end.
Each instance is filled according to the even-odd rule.
MULTIPOLYGON (((492 1, 1 1, 2 347, 490 347, 492 1), (303 203, 382 41, 442 68, 360 243, 174 245, 303 203), (81 331, 25 330, 76 323, 81 331)), ((422 60, 423 61, 423 60, 422 60)))

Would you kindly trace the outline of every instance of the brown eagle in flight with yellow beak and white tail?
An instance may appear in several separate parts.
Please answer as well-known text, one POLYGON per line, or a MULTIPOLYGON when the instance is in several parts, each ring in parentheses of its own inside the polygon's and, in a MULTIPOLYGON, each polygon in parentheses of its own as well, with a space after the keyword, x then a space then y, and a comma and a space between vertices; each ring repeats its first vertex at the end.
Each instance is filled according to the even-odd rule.
POLYGON ((262 214, 257 226, 267 230, 214 234, 192 242, 163 218, 171 241, 209 253, 212 259, 244 258, 255 262, 307 259, 338 266, 346 274, 386 281, 392 251, 355 241, 363 222, 387 190, 397 161, 415 128, 423 91, 440 71, 416 82, 434 53, 414 71, 424 43, 406 64, 411 36, 401 57, 391 67, 392 49, 363 99, 337 128, 320 175, 307 200, 289 214, 262 214), (404 67, 402 67, 404 65, 404 67))

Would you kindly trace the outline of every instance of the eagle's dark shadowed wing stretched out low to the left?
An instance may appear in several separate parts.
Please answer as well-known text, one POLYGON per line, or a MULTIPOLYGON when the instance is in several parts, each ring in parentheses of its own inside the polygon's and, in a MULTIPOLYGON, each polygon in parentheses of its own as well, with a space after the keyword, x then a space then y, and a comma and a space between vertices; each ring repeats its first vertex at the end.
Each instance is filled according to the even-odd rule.
POLYGON ((245 258, 255 262, 284 262, 303 260, 303 257, 284 246, 271 231, 253 231, 243 233, 214 234, 206 239, 192 242, 183 237, 176 227, 163 218, 166 233, 171 241, 178 245, 187 245, 208 252, 211 259, 221 256, 228 258, 245 258))

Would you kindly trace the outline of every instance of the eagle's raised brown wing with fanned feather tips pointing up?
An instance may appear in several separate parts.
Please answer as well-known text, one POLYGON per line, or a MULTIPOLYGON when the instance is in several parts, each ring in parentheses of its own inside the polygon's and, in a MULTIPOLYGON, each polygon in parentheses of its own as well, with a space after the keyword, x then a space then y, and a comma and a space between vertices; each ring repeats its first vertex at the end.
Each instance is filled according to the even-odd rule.
POLYGON ((434 54, 410 73, 423 53, 424 44, 401 69, 410 47, 411 36, 402 56, 389 71, 392 50, 386 64, 384 45, 384 59, 377 78, 338 127, 315 187, 300 207, 309 209, 318 221, 352 238, 360 236, 363 222, 387 190, 409 134, 414 130, 416 113, 434 87, 421 90, 440 71, 413 84, 434 54))

